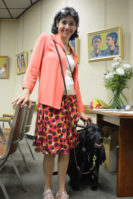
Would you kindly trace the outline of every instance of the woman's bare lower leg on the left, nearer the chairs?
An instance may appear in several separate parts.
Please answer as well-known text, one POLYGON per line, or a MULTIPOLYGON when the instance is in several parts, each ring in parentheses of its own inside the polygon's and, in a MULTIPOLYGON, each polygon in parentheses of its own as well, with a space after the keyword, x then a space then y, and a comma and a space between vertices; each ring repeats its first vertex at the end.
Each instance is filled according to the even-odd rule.
POLYGON ((45 178, 45 186, 44 189, 52 189, 52 175, 54 170, 54 155, 45 155, 43 160, 43 171, 45 178))

